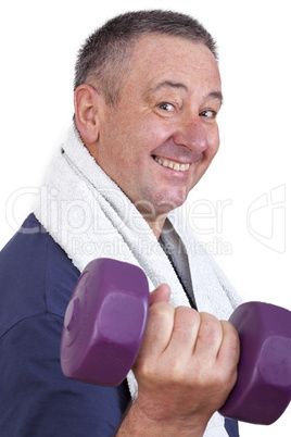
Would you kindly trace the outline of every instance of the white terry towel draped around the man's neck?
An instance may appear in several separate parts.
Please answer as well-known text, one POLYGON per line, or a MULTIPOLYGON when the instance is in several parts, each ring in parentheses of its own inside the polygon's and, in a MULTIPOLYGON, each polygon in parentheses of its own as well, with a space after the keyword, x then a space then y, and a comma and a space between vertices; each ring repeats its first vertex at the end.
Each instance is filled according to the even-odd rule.
MULTIPOLYGON (((130 262, 146 272, 151 291, 167 283, 170 303, 190 305, 148 223, 97 165, 73 126, 45 175, 34 212, 80 272, 96 258, 130 262)), ((198 309, 227 320, 240 303, 239 297, 201 246, 195 251, 198 242, 180 210, 173 211, 168 218, 188 252, 198 309)), ((135 399, 138 387, 132 372, 127 380, 135 399)), ((227 436, 224 417, 215 413, 204 435, 227 436)))

